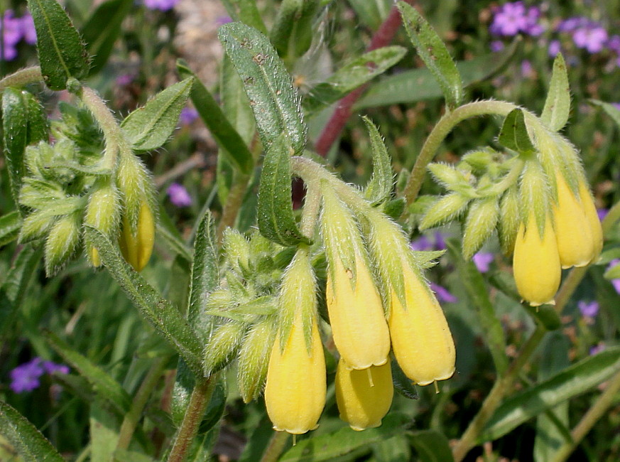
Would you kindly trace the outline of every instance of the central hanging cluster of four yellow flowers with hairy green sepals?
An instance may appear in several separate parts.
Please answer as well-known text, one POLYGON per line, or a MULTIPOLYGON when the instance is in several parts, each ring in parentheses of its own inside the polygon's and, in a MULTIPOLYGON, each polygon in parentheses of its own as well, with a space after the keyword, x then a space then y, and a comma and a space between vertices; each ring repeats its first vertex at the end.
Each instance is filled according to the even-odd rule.
MULTIPOLYGON (((401 229, 370 205, 363 216, 354 215, 331 186, 323 186, 327 311, 340 355, 336 399, 340 417, 363 430, 381 425, 391 406, 391 349, 410 380, 428 385, 452 377, 455 345, 401 229), (356 218, 364 221, 365 241, 356 218)), ((283 277, 265 388, 273 428, 291 434, 315 429, 325 406, 309 251, 300 247, 283 277)))

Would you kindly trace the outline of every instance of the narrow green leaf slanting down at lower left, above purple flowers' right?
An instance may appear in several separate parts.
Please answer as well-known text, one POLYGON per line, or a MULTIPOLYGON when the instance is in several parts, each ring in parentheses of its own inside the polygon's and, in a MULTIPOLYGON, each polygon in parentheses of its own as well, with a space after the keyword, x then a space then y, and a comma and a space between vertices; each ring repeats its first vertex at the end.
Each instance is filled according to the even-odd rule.
POLYGON ((124 414, 129 410, 131 398, 129 394, 116 382, 111 375, 101 367, 95 365, 82 353, 70 347, 64 340, 51 331, 44 331, 45 339, 50 346, 58 353, 65 362, 71 365, 80 375, 88 380, 94 392, 105 401, 112 404, 112 407, 119 414, 124 414))

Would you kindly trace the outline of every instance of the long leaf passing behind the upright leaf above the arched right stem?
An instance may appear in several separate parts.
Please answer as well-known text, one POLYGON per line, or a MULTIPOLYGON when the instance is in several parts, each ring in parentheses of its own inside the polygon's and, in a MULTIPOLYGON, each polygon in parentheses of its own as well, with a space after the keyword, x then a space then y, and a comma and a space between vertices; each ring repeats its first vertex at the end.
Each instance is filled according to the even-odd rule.
MULTIPOLYGON (((515 55, 519 43, 519 40, 513 41, 501 53, 488 53, 472 60, 457 62, 463 85, 467 87, 482 82, 502 70, 515 55)), ((430 70, 420 68, 398 72, 372 82, 369 90, 354 107, 359 110, 391 104, 408 104, 442 96, 442 89, 430 70)))

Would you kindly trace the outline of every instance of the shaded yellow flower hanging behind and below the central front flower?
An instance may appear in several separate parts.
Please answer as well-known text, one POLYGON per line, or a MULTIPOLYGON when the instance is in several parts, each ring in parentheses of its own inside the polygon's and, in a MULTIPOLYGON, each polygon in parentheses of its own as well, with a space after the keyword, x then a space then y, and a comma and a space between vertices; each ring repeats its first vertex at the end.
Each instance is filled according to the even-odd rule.
POLYGON ((336 370, 336 403, 340 419, 356 431, 374 429, 390 410, 394 387, 390 363, 356 370, 340 359, 336 370))

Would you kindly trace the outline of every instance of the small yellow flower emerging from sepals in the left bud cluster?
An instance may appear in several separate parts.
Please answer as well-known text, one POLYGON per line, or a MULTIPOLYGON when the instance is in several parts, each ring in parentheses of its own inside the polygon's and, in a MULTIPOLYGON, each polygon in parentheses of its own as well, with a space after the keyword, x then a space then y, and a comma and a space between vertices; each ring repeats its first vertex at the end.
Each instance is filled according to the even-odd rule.
POLYGON ((123 218, 123 230, 119 237, 119 247, 126 261, 136 271, 141 271, 153 252, 155 242, 155 220, 148 203, 143 202, 138 213, 138 225, 136 234, 131 232, 131 225, 125 216, 123 218))

